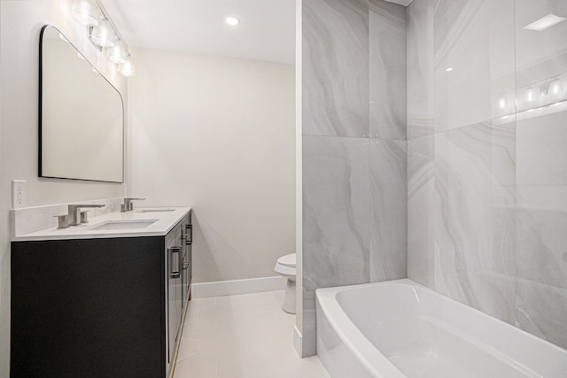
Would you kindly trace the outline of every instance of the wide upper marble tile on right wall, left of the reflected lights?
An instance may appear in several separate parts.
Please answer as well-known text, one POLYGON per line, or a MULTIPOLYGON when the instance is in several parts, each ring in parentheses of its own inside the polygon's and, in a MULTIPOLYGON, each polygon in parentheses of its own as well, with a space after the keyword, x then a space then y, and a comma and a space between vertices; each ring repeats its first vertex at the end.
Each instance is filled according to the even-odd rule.
POLYGON ((439 1, 433 17, 435 129, 503 115, 515 88, 514 0, 439 1))

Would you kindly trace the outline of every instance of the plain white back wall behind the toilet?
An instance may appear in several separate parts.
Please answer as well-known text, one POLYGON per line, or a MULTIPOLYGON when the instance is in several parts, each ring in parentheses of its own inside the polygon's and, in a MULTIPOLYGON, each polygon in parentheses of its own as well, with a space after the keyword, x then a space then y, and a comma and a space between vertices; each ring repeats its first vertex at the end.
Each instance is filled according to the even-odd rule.
POLYGON ((194 209, 195 282, 276 275, 294 251, 294 67, 133 50, 129 192, 194 209))

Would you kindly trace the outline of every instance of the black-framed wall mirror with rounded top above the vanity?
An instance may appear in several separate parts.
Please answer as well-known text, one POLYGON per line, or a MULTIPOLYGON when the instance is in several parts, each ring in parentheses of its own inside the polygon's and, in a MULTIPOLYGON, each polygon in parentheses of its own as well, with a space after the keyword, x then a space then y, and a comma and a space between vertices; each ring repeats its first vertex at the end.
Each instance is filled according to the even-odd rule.
POLYGON ((56 27, 40 35, 39 176, 124 181, 120 92, 56 27))

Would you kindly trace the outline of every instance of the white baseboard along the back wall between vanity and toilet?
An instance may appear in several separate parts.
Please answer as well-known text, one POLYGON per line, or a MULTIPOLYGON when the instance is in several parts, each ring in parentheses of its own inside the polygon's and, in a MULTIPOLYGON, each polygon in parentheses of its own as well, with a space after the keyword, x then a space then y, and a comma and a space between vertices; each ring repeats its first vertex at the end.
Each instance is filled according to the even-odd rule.
POLYGON ((193 283, 191 298, 224 297, 285 289, 287 279, 281 275, 220 282, 193 283))

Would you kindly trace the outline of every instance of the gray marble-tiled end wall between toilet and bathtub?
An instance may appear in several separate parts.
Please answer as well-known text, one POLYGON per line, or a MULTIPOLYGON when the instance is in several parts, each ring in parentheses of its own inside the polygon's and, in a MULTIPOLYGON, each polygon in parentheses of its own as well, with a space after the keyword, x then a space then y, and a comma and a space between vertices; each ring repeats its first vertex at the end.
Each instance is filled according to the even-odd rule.
POLYGON ((303 352, 315 289, 407 276, 406 12, 302 3, 303 352))

